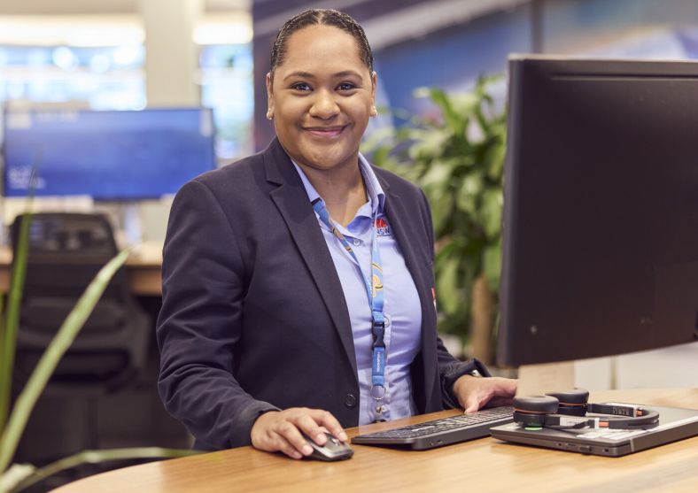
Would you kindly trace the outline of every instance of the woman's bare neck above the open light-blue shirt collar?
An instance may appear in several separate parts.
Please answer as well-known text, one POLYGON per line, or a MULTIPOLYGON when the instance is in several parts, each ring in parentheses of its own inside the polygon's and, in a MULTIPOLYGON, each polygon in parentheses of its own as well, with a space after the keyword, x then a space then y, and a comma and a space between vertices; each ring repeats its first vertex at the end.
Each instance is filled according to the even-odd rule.
POLYGON ((300 164, 299 166, 317 193, 322 196, 332 220, 342 226, 349 224, 361 205, 366 204, 366 186, 358 160, 355 166, 343 166, 332 170, 318 170, 300 164))

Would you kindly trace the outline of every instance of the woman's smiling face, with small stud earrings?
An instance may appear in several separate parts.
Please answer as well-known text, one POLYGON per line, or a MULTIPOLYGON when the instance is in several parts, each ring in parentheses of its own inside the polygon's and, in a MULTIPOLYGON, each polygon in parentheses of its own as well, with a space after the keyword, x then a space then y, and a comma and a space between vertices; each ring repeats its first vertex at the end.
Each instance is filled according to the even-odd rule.
POLYGON ((352 35, 331 26, 293 33, 274 80, 267 76, 267 94, 276 135, 299 166, 357 165, 375 112, 376 73, 368 72, 352 35))

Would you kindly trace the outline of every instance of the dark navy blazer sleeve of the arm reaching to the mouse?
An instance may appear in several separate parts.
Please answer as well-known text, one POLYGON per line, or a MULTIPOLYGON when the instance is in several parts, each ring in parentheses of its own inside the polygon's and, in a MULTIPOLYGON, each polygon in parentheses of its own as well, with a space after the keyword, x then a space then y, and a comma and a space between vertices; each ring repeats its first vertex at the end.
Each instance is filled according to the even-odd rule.
POLYGON ((174 198, 163 250, 159 394, 206 450, 249 444, 254 421, 277 410, 233 376, 245 267, 231 219, 205 183, 190 181, 174 198))

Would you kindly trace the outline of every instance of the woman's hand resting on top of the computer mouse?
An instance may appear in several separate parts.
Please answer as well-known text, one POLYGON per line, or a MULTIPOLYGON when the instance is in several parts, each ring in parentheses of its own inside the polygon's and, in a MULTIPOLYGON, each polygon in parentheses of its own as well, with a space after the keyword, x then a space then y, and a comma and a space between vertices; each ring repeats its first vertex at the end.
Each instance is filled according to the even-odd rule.
POLYGON ((260 451, 281 451, 291 458, 303 458, 313 449, 306 443, 300 430, 318 445, 324 445, 326 428, 332 435, 345 442, 347 436, 339 421, 322 409, 291 407, 283 411, 262 414, 252 425, 252 447, 260 451))

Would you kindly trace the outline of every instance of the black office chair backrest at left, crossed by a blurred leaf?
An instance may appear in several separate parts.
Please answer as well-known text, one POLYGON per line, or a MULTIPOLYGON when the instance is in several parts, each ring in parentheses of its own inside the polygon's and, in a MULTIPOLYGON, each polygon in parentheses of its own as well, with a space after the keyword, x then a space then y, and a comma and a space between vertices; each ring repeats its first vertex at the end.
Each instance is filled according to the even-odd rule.
MULTIPOLYGON (((12 244, 27 215, 12 224, 12 244)), ((19 320, 19 376, 30 374, 89 282, 118 252, 102 214, 42 212, 29 223, 27 273, 19 320)), ((13 258, 16 258, 16 253, 13 258)), ((102 383, 142 366, 148 322, 128 288, 124 269, 112 278, 51 381, 102 383)))

